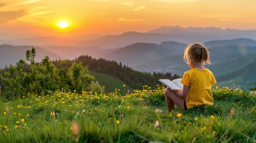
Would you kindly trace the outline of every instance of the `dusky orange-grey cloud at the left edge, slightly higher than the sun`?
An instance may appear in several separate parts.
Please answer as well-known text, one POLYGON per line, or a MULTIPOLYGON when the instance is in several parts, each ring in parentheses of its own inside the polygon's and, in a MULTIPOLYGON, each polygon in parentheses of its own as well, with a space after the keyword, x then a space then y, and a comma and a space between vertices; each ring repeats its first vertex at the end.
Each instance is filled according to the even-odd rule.
POLYGON ((0 11, 0 23, 6 23, 27 15, 25 10, 0 11))

